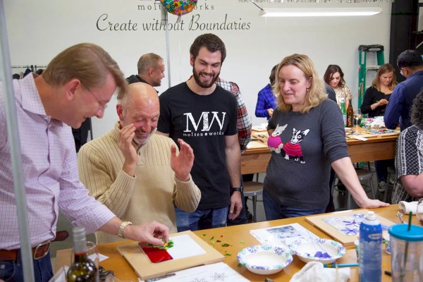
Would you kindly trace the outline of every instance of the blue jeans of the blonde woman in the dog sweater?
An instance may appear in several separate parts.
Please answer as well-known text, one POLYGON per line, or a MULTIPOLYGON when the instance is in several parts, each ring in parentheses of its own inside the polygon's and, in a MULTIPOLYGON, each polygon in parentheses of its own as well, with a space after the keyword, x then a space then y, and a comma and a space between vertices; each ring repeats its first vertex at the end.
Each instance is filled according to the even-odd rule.
POLYGON ((275 219, 288 219, 289 217, 309 216, 312 214, 323 214, 326 207, 323 209, 300 209, 299 207, 289 207, 275 202, 266 190, 263 190, 263 205, 264 214, 266 214, 266 221, 275 219))

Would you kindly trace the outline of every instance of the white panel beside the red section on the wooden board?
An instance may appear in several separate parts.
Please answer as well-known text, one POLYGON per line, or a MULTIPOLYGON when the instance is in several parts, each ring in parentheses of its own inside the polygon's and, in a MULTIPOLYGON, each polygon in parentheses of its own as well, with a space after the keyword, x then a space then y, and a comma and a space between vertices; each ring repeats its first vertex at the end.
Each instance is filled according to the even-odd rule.
POLYGON ((193 240, 190 235, 179 235, 170 238, 173 241, 173 247, 167 252, 173 259, 183 259, 184 257, 193 257, 203 255, 206 251, 193 240))

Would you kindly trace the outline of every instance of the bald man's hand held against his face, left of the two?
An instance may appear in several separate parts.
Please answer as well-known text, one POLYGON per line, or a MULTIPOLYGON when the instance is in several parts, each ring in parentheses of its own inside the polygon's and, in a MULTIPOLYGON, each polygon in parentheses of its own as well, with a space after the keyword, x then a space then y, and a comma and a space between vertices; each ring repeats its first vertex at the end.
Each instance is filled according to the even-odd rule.
POLYGON ((125 125, 118 134, 118 147, 121 149, 125 162, 123 163, 123 171, 129 176, 135 176, 135 168, 138 163, 138 155, 133 146, 133 138, 135 137, 135 126, 131 123, 125 125))

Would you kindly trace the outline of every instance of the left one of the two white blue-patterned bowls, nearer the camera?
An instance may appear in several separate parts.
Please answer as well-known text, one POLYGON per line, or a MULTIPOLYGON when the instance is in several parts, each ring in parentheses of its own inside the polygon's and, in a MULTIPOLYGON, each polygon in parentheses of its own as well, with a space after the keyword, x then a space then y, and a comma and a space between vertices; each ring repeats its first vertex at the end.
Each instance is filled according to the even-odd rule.
POLYGON ((270 275, 290 264, 293 256, 285 247, 254 245, 240 250, 238 261, 255 274, 270 275))

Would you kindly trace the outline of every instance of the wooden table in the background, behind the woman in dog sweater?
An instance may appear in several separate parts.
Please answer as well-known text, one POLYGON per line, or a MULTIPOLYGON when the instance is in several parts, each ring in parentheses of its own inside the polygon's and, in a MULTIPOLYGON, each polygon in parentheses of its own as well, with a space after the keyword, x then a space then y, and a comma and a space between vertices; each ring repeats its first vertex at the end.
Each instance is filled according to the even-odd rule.
MULTIPOLYGON (((359 131, 362 130, 364 129, 359 128, 359 131)), ((360 161, 394 159, 398 135, 375 135, 375 137, 368 138, 367 141, 348 138, 348 153, 351 161, 358 163, 360 161)), ((251 144, 252 148, 247 149, 241 157, 241 173, 266 172, 271 156, 266 142, 252 141, 251 144)))

